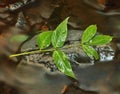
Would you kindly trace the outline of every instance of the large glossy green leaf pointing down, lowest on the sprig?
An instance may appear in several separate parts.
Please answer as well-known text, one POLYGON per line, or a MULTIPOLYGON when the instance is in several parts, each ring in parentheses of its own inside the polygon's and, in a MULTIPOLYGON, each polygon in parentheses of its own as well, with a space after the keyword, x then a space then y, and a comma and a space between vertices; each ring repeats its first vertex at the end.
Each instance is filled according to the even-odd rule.
POLYGON ((62 51, 54 51, 53 52, 53 59, 58 67, 58 69, 63 72, 65 75, 75 78, 75 75, 72 71, 70 62, 68 61, 67 56, 62 51))

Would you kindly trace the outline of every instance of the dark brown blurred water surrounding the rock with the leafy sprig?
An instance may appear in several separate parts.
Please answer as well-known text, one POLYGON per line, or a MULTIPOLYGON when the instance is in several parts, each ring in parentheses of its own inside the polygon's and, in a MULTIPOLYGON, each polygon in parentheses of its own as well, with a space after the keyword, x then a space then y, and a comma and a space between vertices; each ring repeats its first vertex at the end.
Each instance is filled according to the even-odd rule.
POLYGON ((106 11, 97 0, 0 1, 0 93, 61 94, 68 85, 64 94, 119 94, 120 9, 116 6, 106 11), (9 58, 9 55, 16 53, 23 41, 10 39, 15 35, 32 37, 37 31, 53 30, 68 16, 69 29, 84 30, 90 24, 96 24, 100 33, 112 35, 116 45, 115 59, 83 69, 76 67, 79 85, 61 73, 52 74, 44 68, 39 70, 34 64, 22 66, 19 73, 16 65, 21 58, 9 58))

